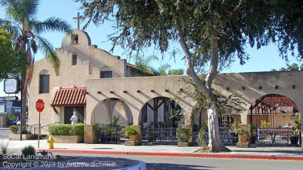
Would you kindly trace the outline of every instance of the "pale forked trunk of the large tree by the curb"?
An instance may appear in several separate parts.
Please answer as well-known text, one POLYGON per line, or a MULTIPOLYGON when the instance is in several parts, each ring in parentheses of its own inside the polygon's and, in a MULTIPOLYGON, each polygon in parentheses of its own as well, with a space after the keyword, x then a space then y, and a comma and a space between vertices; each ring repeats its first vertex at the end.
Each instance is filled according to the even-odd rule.
MULTIPOLYGON (((217 25, 218 27, 218 25, 217 25)), ((176 20, 176 29, 178 34, 178 39, 180 45, 185 53, 186 59, 186 73, 189 75, 191 80, 199 87, 200 90, 206 92, 207 102, 209 104, 207 108, 208 114, 208 151, 210 152, 222 152, 222 151, 230 151, 228 148, 222 145, 220 142, 219 136, 219 125, 218 125, 218 113, 216 109, 215 96, 211 91, 211 83, 217 75, 218 68, 218 31, 216 28, 211 30, 212 39, 211 39, 211 60, 210 60, 210 68, 208 70, 208 74, 205 78, 205 84, 199 79, 195 70, 192 66, 191 53, 188 49, 188 46, 185 42, 183 30, 181 27, 180 20, 176 20)))

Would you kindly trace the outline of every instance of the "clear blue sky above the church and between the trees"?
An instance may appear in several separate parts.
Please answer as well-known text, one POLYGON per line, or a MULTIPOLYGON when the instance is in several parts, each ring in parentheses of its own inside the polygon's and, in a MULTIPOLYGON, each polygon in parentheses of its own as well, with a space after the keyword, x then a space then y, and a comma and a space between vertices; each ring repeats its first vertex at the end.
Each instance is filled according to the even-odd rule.
MULTIPOLYGON (((80 12, 82 15, 82 11, 79 10, 80 3, 76 3, 72 0, 46 0, 41 3, 41 7, 38 13, 38 20, 43 21, 50 17, 58 17, 68 21, 73 28, 77 28, 76 20, 72 19, 73 17, 77 16, 77 12, 80 12)), ((3 8, 0 8, 0 18, 5 18, 3 8)), ((84 23, 80 23, 80 29, 83 27, 84 23)), ((85 31, 91 38, 92 44, 98 46, 105 51, 109 51, 112 47, 110 42, 105 42, 107 40, 107 35, 113 32, 111 28, 111 23, 105 22, 104 25, 100 25, 98 28, 91 24, 85 31), (103 42, 103 43, 102 43, 103 42)), ((63 34, 61 33, 48 33, 43 35, 46 39, 48 39, 54 47, 58 48, 61 47, 61 42, 63 38, 63 34)), ((181 49, 178 42, 173 43, 175 47, 181 49)), ((118 55, 121 58, 128 59, 127 55, 123 54, 123 50, 118 46, 115 47, 113 51, 113 55, 118 55)), ((150 55, 154 52, 153 48, 147 49, 144 53, 145 56, 150 55)), ((183 51, 181 51, 183 52, 183 51)), ((251 59, 248 62, 240 66, 239 61, 236 60, 232 65, 231 69, 223 70, 221 73, 236 73, 236 72, 260 72, 260 71, 270 71, 271 69, 279 70, 281 67, 286 67, 285 61, 279 57, 278 48, 275 47, 274 44, 269 45, 268 47, 261 47, 257 51, 256 47, 254 48, 247 48, 247 52, 250 55, 251 59)), ((158 54, 158 58, 160 62, 153 63, 155 68, 158 68, 159 65, 162 63, 168 63, 171 65, 171 69, 183 68, 185 69, 185 61, 181 60, 184 54, 179 54, 176 57, 176 63, 173 59, 171 59, 169 54, 165 54, 165 58, 161 61, 160 52, 155 51, 155 54, 158 54)), ((38 53, 35 55, 35 60, 40 60, 43 58, 44 55, 38 53)), ((297 63, 301 65, 297 60, 292 57, 289 57, 289 64, 297 63)), ((128 59, 128 63, 134 63, 133 60, 128 59)), ((3 82, 0 83, 0 96, 7 96, 4 92, 3 82)))

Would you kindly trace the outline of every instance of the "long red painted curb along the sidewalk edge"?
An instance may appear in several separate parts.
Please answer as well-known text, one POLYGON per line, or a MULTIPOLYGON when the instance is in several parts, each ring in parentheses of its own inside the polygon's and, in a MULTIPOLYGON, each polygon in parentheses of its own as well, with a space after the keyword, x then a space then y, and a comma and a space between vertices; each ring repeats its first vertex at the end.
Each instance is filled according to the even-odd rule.
POLYGON ((141 156, 176 156, 176 157, 201 157, 201 158, 237 158, 237 159, 275 159, 303 161, 302 156, 273 156, 273 155, 240 155, 240 154, 216 154, 216 153, 170 153, 170 152, 122 152, 122 151, 97 151, 97 150, 73 150, 73 149, 39 149, 47 152, 62 153, 87 153, 108 155, 141 155, 141 156))

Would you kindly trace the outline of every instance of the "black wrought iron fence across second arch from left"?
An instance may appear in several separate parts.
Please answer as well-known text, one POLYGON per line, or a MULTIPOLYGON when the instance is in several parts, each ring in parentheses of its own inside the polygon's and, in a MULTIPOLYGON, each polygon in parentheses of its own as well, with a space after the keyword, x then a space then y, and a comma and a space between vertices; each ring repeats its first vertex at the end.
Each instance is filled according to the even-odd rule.
POLYGON ((144 128, 142 144, 178 144, 176 128, 144 128))

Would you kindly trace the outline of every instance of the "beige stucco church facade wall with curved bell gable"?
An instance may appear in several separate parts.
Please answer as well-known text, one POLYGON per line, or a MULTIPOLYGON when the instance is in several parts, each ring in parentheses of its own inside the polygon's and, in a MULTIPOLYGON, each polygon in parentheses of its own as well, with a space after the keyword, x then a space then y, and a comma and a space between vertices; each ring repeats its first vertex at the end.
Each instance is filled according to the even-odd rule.
MULTIPOLYGON (((50 107, 55 88, 72 87, 73 84, 77 87, 85 87, 86 80, 100 78, 100 70, 106 66, 112 68, 114 78, 127 76, 126 60, 120 59, 119 56, 113 56, 97 48, 96 45, 91 45, 91 40, 86 32, 75 29, 74 33, 78 34, 78 44, 72 44, 71 36, 66 34, 62 39, 62 46, 56 48, 61 60, 59 75, 54 73, 45 57, 35 62, 32 82, 29 86, 29 125, 38 124, 38 112, 35 109, 35 103, 38 99, 42 99, 45 103, 45 109, 41 113, 41 126, 56 122, 64 123, 64 107, 56 107, 58 114, 50 107), (77 54, 77 65, 72 65, 72 54, 75 53, 77 54), (93 74, 89 74, 90 63, 93 65, 93 74), (45 72, 50 75, 49 93, 39 94, 39 74, 45 72)), ((86 110, 86 107, 84 109, 86 110)), ((42 128, 43 133, 48 132, 42 128)))

